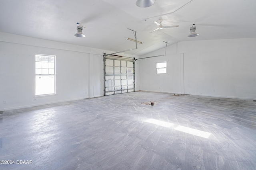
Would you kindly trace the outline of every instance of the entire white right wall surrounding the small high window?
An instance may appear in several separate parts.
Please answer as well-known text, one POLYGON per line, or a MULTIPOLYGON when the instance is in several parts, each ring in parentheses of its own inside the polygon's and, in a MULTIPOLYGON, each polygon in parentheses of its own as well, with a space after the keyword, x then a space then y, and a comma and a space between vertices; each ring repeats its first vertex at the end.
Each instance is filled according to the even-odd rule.
POLYGON ((255 38, 183 41, 168 46, 165 57, 141 60, 140 90, 255 99, 255 47, 255 38), (155 74, 155 64, 160 61, 168 61, 168 74, 155 74))

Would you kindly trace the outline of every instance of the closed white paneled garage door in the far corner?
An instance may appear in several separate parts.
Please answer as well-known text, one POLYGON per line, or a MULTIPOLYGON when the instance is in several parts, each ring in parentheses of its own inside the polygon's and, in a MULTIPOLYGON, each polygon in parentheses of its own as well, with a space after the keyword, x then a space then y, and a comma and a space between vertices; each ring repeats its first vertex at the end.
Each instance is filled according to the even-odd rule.
POLYGON ((133 61, 123 57, 105 58, 105 96, 135 91, 133 61))

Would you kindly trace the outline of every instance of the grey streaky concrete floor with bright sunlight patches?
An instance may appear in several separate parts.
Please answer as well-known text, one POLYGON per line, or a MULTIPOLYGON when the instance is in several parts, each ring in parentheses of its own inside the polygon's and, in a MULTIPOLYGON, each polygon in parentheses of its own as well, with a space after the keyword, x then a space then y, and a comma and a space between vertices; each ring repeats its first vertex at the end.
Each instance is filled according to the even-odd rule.
POLYGON ((132 92, 4 111, 0 160, 14 160, 1 170, 255 170, 256 102, 132 92))

